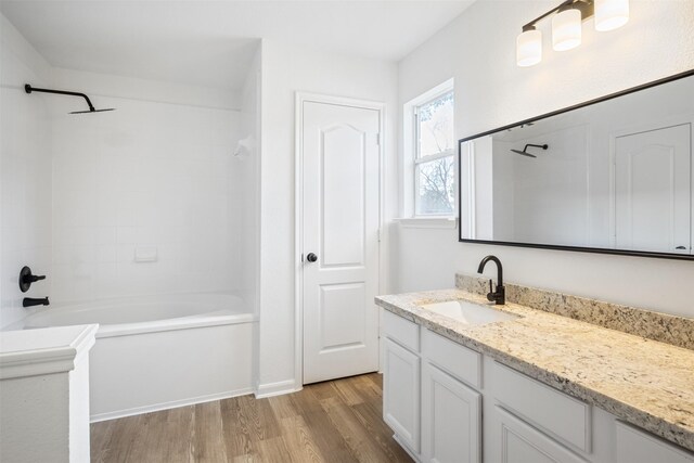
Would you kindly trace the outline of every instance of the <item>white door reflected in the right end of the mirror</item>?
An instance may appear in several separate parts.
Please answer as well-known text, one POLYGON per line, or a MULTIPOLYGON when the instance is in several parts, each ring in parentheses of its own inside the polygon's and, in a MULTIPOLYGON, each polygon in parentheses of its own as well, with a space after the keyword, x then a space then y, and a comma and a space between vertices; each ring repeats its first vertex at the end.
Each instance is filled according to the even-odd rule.
POLYGON ((691 124, 615 140, 615 245, 692 254, 691 124))

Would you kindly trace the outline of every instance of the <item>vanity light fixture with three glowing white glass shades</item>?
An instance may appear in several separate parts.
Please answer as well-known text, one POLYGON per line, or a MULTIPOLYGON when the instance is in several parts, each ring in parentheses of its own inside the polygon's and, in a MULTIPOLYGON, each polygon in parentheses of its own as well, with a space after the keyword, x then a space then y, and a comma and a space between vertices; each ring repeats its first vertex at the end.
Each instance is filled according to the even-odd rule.
POLYGON ((552 48, 571 50, 581 44, 581 23, 595 16, 595 29, 614 30, 629 21, 629 0, 565 0, 525 26, 516 39, 516 63, 528 67, 542 61, 542 33, 537 23, 552 17, 552 48))

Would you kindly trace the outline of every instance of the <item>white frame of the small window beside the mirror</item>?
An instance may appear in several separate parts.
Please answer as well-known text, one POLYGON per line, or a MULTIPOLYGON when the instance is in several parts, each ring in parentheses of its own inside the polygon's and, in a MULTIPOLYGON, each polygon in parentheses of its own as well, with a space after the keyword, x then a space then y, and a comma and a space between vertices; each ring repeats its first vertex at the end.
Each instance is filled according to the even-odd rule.
POLYGON ((453 97, 453 131, 455 127, 455 90, 453 88, 452 82, 446 82, 441 86, 437 86, 436 88, 429 90, 429 92, 424 93, 420 98, 415 100, 415 102, 411 105, 411 118, 412 118, 412 215, 411 217, 416 218, 454 218, 458 216, 458 157, 455 156, 455 134, 453 132, 452 137, 452 145, 451 149, 442 151, 436 154, 429 154, 426 156, 421 155, 421 143, 420 143, 420 117, 419 110, 422 106, 426 106, 427 104, 439 100, 448 94, 453 97), (445 87, 441 89, 441 87, 445 87), (419 205, 419 191, 420 191, 420 166, 424 164, 429 164, 446 157, 452 157, 453 159, 453 182, 454 182, 454 192, 453 192, 453 204, 452 210, 450 214, 420 214, 417 213, 419 205))

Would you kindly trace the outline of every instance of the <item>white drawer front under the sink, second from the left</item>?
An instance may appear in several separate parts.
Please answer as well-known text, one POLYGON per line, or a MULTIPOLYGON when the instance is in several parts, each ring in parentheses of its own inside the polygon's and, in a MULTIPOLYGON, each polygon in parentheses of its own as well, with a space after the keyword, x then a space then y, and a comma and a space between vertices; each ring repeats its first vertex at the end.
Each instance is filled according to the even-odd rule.
POLYGON ((429 330, 422 330, 422 352, 427 360, 463 383, 480 387, 481 355, 445 338, 429 330))

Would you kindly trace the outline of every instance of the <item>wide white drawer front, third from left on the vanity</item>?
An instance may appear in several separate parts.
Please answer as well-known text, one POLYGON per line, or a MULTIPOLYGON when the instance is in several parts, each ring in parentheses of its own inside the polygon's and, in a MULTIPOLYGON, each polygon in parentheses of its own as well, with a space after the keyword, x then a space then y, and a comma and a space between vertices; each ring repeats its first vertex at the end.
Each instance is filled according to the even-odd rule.
POLYGON ((569 447, 587 453, 591 451, 591 408, 588 403, 500 363, 493 362, 491 370, 493 395, 505 408, 569 447))

